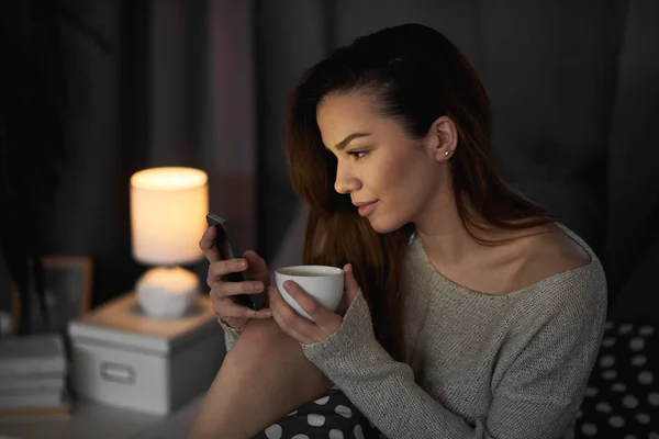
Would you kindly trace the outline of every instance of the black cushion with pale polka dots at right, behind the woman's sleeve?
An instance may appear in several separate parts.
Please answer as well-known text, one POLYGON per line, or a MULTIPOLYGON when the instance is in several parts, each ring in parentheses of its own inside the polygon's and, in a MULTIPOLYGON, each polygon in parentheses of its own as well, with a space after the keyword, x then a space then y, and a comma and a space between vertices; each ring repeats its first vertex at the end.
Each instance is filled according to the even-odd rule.
POLYGON ((576 438, 659 439, 659 336, 652 325, 607 322, 576 438))

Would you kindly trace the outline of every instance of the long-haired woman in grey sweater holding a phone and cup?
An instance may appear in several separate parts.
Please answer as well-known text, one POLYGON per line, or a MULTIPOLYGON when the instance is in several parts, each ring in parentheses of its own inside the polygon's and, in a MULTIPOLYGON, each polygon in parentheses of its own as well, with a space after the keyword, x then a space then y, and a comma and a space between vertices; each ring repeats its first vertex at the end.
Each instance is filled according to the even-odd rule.
POLYGON ((347 311, 291 284, 316 323, 300 317, 256 254, 220 261, 209 229, 200 245, 230 351, 191 437, 571 436, 604 272, 496 173, 489 98, 447 38, 386 29, 309 69, 288 158, 310 206, 304 261, 345 267, 347 311), (247 266, 260 282, 222 282, 247 266), (255 291, 269 308, 227 299, 255 291))

